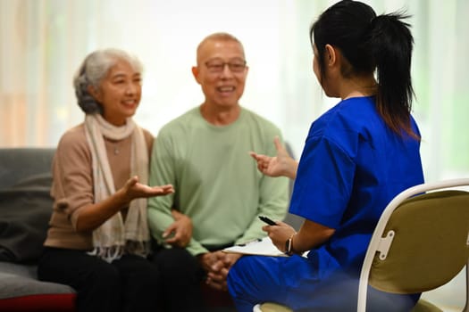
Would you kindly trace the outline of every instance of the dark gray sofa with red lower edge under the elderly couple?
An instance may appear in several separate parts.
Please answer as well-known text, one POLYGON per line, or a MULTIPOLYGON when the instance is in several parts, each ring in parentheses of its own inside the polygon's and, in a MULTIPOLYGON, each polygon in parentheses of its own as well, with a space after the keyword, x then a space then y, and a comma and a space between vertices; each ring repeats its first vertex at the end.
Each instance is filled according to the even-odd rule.
MULTIPOLYGON (((38 281, 37 263, 52 213, 54 148, 0 148, 0 311, 74 311, 75 291, 38 281)), ((235 311, 227 292, 205 285, 211 312, 235 311)))

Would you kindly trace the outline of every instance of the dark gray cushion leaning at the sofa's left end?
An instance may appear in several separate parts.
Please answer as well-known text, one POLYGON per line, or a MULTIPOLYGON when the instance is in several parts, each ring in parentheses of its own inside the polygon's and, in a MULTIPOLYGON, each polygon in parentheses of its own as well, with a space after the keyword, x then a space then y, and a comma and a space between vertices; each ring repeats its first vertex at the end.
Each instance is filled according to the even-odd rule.
POLYGON ((50 173, 25 177, 0 189, 0 261, 35 262, 52 213, 50 173))

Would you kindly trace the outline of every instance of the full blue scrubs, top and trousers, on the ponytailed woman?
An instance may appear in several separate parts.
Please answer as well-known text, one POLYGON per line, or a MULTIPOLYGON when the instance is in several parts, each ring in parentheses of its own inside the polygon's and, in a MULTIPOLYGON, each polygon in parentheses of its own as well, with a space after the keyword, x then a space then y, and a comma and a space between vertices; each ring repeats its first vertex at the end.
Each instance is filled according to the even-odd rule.
MULTIPOLYGON (((411 127, 420 135, 415 120, 411 127)), ((386 205, 423 183, 420 141, 398 135, 376 111, 374 97, 341 101, 314 121, 297 169, 289 212, 336 231, 307 259, 245 256, 230 268, 228 287, 240 312, 273 301, 295 311, 356 311, 358 277, 386 205)), ((368 307, 410 310, 420 294, 369 287, 368 307), (370 304, 372 303, 372 304, 370 304), (376 306, 374 306, 376 305, 376 306)))

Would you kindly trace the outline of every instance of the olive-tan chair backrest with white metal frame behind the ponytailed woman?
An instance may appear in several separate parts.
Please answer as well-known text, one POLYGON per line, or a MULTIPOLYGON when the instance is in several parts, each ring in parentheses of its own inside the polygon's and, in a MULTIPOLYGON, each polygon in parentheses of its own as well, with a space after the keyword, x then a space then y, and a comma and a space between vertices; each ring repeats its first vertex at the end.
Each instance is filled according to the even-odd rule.
POLYGON ((389 202, 365 255, 357 311, 365 311, 368 284, 393 293, 430 291, 465 267, 469 193, 448 188, 467 185, 469 178, 416 185, 389 202))

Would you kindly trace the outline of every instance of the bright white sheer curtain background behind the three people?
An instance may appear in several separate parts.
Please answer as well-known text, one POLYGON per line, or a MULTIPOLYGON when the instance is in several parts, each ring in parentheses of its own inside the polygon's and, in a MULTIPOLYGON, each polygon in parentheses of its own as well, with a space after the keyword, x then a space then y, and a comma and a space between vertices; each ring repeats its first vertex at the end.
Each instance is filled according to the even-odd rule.
MULTIPOLYGON (((84 56, 119 47, 145 64, 136 119, 157 135, 202 102, 190 73, 206 35, 228 31, 250 67, 242 105, 281 127, 298 157, 311 122, 337 103, 312 70, 308 30, 324 0, 0 0, 0 146, 54 146, 83 119, 71 86, 84 56)), ((406 9, 415 36, 414 113, 428 181, 469 176, 469 2, 370 0, 406 9)), ((454 290, 453 290, 454 293, 454 290)))

